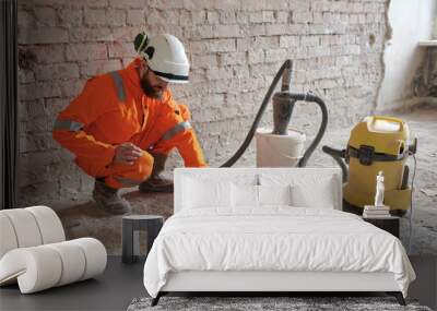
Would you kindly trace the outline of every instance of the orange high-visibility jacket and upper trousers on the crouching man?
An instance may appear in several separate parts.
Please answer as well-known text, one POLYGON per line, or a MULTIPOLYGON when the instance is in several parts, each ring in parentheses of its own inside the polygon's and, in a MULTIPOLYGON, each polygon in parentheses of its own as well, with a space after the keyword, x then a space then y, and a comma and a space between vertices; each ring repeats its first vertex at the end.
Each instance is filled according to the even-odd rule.
POLYGON ((155 154, 168 154, 176 147, 185 166, 206 165, 188 122, 188 108, 177 104, 168 89, 161 99, 147 97, 137 71, 139 61, 88 80, 55 122, 55 140, 72 152, 75 163, 91 176, 109 165, 116 146, 125 142, 155 154))

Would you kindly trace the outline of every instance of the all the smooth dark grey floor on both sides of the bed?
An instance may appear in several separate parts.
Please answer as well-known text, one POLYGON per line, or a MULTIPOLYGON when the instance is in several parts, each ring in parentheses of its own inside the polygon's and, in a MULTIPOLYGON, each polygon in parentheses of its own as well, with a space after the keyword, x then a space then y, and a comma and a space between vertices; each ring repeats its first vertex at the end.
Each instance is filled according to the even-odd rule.
MULTIPOLYGON (((422 306, 437 308, 437 258, 412 256, 411 263, 417 279, 409 289, 409 299, 417 299, 422 306)), ((109 256, 106 271, 95 279, 88 279, 49 290, 21 295, 16 285, 0 289, 2 311, 47 310, 126 310, 133 298, 146 297, 142 283, 144 260, 135 264, 122 264, 119 256, 109 256)), ((382 292, 293 292, 292 296, 381 296, 382 292)), ((163 298, 165 299, 165 298, 163 298)), ((400 307, 400 310, 402 307, 400 307)))

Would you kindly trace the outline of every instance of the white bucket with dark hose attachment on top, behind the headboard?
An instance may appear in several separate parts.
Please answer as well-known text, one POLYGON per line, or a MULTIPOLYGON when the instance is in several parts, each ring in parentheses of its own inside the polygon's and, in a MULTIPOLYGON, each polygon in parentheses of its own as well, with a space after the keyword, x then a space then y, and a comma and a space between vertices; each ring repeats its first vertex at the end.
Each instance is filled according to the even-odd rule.
POLYGON ((272 134, 272 129, 256 132, 257 167, 295 167, 304 154, 306 136, 288 130, 287 135, 272 134))

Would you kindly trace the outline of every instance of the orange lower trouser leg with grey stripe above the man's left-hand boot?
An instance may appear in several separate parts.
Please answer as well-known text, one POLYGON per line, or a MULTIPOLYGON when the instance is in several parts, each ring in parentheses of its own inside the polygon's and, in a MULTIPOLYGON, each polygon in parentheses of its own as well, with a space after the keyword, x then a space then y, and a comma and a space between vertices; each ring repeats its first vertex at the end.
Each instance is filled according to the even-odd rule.
POLYGON ((132 165, 114 165, 113 172, 105 178, 105 183, 116 189, 135 187, 151 176, 152 168, 153 157, 144 152, 132 165))

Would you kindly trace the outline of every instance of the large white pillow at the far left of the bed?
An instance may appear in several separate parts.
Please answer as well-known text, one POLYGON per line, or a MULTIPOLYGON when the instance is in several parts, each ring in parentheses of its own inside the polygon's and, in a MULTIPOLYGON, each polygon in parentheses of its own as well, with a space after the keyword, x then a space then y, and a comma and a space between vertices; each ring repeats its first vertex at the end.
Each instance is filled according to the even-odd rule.
POLYGON ((186 178, 184 208, 229 207, 231 182, 186 178))

